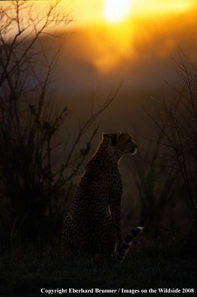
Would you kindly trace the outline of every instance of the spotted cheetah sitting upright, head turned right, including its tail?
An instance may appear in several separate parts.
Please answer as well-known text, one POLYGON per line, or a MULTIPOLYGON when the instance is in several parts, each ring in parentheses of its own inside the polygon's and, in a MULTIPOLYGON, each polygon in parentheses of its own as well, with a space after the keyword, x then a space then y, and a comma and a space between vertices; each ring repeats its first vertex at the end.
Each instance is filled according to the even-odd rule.
POLYGON ((117 261, 122 262, 133 238, 143 228, 135 228, 122 243, 122 178, 118 163, 124 154, 134 154, 138 145, 126 133, 102 133, 102 137, 77 186, 73 215, 65 218, 62 236, 73 252, 101 252, 109 257, 115 249, 117 261))

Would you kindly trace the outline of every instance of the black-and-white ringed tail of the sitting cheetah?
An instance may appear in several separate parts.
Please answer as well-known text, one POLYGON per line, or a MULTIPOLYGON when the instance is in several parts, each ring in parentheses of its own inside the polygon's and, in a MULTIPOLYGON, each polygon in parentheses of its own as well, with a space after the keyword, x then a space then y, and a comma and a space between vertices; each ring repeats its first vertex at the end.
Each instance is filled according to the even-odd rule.
POLYGON ((136 227, 133 231, 129 232, 127 234, 127 236, 125 237, 121 248, 119 249, 117 255, 116 255, 116 259, 119 263, 121 263, 124 260, 124 257, 126 255, 126 253, 128 252, 128 249, 133 241, 133 239, 135 237, 137 237, 144 228, 142 227, 136 227))

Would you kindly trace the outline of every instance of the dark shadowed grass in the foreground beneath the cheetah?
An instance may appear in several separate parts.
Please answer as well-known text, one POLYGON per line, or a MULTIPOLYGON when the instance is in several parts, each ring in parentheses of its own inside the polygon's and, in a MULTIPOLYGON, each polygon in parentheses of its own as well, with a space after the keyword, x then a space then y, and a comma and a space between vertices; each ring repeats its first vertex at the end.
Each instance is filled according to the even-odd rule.
MULTIPOLYGON (((120 295, 119 289, 121 293, 122 289, 127 290, 122 293, 124 296, 168 296, 166 293, 159 293, 159 288, 174 288, 181 292, 182 289, 194 289, 194 294, 171 293, 170 296, 195 296, 197 257, 189 255, 183 244, 132 246, 121 265, 113 259, 105 260, 101 255, 92 258, 70 255, 63 244, 44 249, 29 246, 1 250, 1 297, 49 295, 47 291, 42 294, 42 288, 67 289, 67 294, 69 289, 93 289, 94 293, 76 293, 77 296, 98 296, 96 288, 117 290, 113 296, 120 295), (157 292, 149 293, 150 289, 157 292), (139 290, 139 293, 134 291, 133 294, 128 290, 139 290), (141 293, 141 290, 147 290, 147 293, 141 293)), ((61 294, 56 292, 54 295, 61 294)))

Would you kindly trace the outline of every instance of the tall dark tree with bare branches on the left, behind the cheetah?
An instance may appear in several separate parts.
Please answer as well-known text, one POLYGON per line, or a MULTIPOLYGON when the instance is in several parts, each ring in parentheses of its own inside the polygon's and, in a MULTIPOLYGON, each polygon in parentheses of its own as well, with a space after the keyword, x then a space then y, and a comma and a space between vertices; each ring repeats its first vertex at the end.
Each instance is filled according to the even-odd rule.
MULTIPOLYGON (((6 1, 0 7, 0 237, 1 242, 56 239, 66 215, 62 205, 73 186, 73 177, 88 155, 95 129, 84 147, 80 139, 116 96, 114 85, 103 104, 82 125, 65 163, 53 166, 52 142, 68 108, 59 111, 51 89, 64 35, 54 28, 71 18, 60 0, 47 1, 40 11, 32 1, 6 1), (46 36, 57 38, 54 48, 46 36), (67 170, 67 175, 65 174, 67 170)), ((68 128, 69 130, 69 128, 68 128)))

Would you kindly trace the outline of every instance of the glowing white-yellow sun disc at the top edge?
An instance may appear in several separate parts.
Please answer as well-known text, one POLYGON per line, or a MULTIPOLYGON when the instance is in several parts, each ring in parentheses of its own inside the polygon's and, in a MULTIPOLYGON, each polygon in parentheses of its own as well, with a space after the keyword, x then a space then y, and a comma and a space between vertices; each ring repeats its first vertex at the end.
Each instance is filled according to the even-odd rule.
POLYGON ((132 0, 105 0, 104 16, 107 20, 118 22, 129 13, 132 0))

